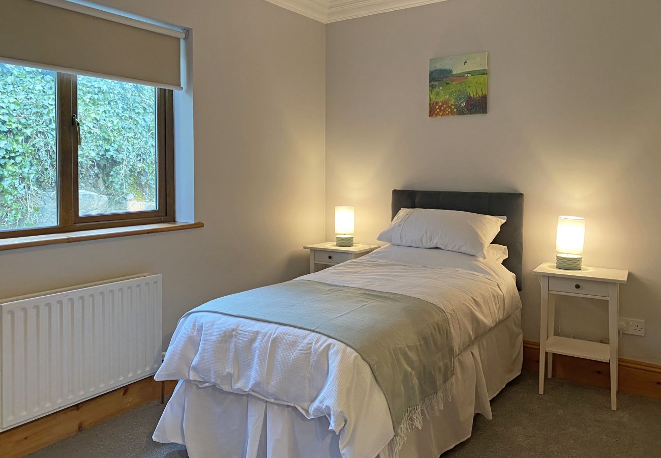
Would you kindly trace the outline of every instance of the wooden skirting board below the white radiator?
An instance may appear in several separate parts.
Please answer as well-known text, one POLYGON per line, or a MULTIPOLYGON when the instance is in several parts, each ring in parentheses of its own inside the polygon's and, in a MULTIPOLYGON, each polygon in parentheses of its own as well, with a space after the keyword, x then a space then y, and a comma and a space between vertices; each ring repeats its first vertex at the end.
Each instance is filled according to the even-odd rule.
MULTIPOLYGON (((166 382, 165 392, 171 394, 175 385, 166 382)), ((0 433, 0 457, 22 457, 160 397, 161 382, 152 377, 101 394, 0 433)))

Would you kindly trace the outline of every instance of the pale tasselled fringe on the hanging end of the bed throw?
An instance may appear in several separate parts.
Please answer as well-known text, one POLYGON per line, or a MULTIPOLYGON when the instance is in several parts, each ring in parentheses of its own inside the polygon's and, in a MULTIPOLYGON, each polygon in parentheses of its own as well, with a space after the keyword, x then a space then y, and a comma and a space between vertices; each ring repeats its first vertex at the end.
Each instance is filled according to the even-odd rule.
POLYGON ((388 443, 388 455, 390 458, 398 458, 399 452, 408 439, 408 434, 412 433, 414 428, 422 430, 422 419, 430 416, 438 416, 446 401, 452 400, 452 389, 454 386, 454 377, 450 377, 440 391, 428 396, 422 400, 419 406, 409 407, 404 414, 404 418, 395 431, 395 437, 388 443))

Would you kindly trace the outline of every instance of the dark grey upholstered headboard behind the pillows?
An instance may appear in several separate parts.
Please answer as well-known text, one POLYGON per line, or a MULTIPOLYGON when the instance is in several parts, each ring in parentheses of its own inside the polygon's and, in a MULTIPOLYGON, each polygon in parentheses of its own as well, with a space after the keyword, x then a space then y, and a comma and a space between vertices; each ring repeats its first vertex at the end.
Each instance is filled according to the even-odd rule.
POLYGON ((393 190, 393 215, 400 208, 438 208, 460 210, 492 216, 507 216, 500 226, 494 244, 507 247, 508 258, 503 265, 516 275, 516 287, 521 291, 524 253, 524 195, 521 193, 463 193, 460 191, 393 190))

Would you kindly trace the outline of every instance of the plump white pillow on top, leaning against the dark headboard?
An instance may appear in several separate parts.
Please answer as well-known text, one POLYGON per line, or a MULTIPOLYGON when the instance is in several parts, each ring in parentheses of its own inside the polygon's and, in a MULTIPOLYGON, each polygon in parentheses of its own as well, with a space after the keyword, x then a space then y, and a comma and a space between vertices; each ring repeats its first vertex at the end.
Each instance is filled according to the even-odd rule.
POLYGON ((504 222, 486 214, 402 208, 377 240, 416 248, 441 248, 486 259, 486 248, 504 222))

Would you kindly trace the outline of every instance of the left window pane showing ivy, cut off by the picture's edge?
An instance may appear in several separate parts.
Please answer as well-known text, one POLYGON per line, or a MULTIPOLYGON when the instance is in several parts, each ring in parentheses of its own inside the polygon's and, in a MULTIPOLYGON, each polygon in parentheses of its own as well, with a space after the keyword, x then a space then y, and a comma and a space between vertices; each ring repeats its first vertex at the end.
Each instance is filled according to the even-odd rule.
POLYGON ((0 64, 0 230, 58 224, 56 74, 0 64))

